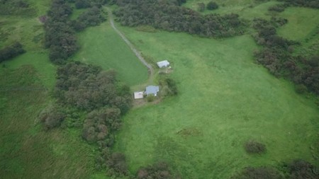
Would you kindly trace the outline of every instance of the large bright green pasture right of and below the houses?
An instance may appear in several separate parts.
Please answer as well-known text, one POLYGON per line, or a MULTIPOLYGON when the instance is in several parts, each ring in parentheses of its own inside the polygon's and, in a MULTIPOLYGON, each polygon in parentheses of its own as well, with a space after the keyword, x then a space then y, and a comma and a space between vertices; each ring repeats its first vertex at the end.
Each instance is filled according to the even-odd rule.
POLYGON ((133 173, 155 161, 172 164, 182 178, 229 178, 293 158, 319 164, 318 108, 254 64, 249 35, 213 40, 121 29, 143 54, 169 59, 179 82, 179 96, 124 117, 115 149, 133 173), (246 154, 249 139, 266 144, 267 154, 246 154))

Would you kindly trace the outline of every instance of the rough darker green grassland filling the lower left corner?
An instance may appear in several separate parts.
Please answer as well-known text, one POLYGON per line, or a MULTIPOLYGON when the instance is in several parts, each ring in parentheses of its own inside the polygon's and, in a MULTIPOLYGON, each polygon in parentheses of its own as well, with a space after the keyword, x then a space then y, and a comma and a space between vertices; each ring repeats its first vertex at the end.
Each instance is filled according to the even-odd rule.
POLYGON ((37 116, 50 97, 30 65, 1 68, 0 178, 89 178, 94 148, 77 130, 43 131, 37 116))

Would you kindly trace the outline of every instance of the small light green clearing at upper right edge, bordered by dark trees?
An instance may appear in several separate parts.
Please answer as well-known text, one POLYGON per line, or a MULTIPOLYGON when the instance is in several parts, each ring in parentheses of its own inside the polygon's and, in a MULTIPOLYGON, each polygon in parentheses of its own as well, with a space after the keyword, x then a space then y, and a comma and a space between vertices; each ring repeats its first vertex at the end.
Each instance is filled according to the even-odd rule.
POLYGON ((306 37, 318 33, 318 9, 289 7, 279 16, 288 19, 288 23, 278 30, 278 34, 282 37, 289 40, 304 40, 306 37))

